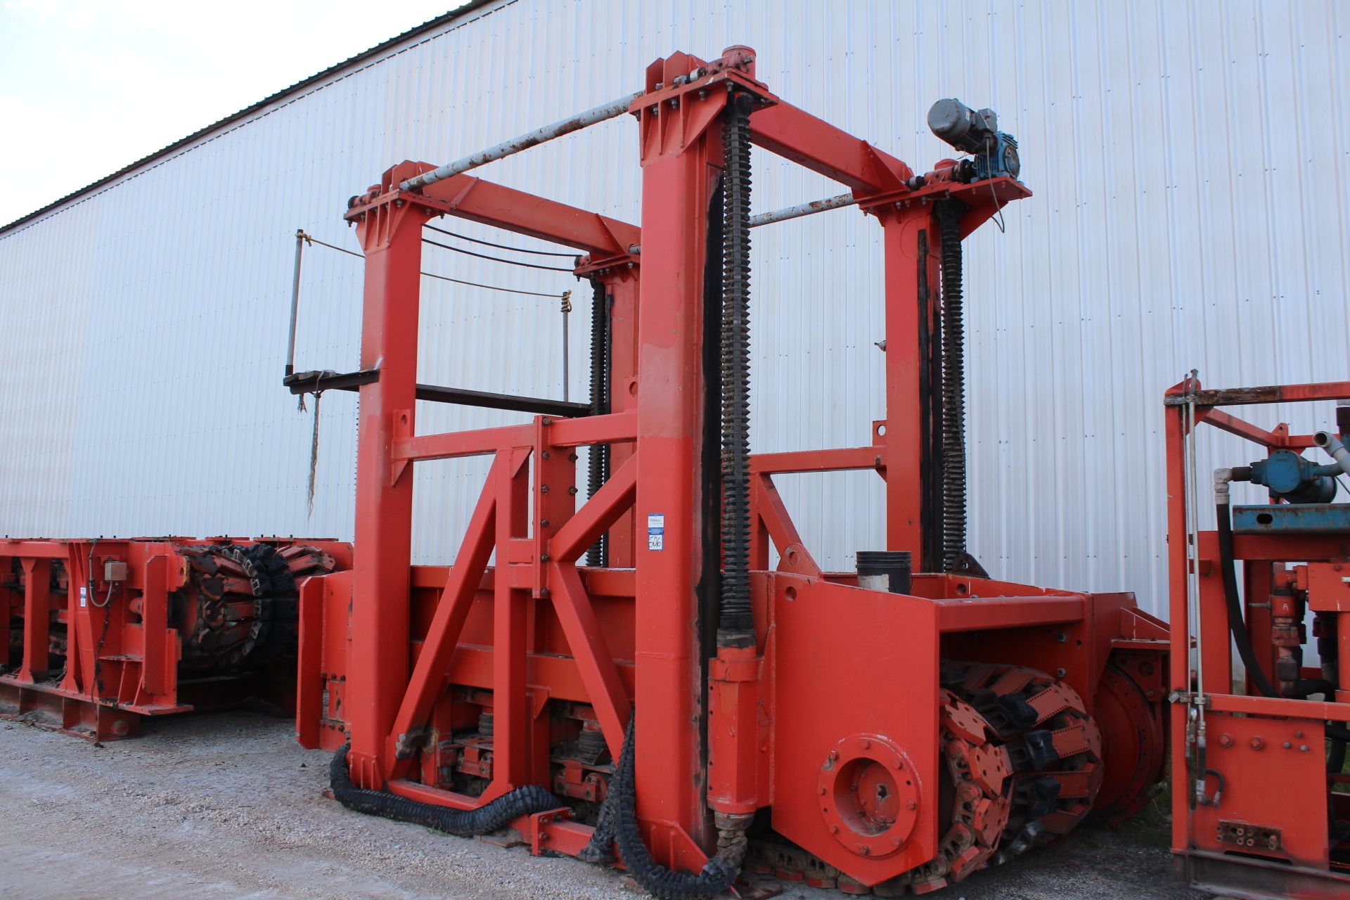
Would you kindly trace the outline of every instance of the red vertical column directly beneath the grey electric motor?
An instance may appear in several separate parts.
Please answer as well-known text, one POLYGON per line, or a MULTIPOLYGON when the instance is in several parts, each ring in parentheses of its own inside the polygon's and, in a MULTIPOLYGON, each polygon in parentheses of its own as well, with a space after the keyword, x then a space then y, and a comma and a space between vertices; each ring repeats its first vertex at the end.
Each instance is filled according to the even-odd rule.
MULTIPOLYGON (((921 321, 932 335, 941 243, 927 202, 878 210, 886 251, 886 548, 923 559, 921 321), (922 317, 922 320, 921 320, 922 317)), ((937 478, 929 472, 929 478, 937 478)))

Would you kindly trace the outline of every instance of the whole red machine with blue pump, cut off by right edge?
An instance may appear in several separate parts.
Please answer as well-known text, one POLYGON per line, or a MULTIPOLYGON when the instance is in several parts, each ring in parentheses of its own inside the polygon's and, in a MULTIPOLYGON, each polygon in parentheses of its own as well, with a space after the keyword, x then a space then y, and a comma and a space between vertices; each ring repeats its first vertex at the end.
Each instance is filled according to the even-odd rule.
POLYGON ((1165 403, 1177 868, 1235 897, 1350 896, 1350 503, 1332 502, 1350 472, 1350 382, 1202 390, 1192 372, 1165 403), (1266 430, 1219 409, 1315 401, 1338 402, 1335 432, 1266 430), (1262 459, 1231 460, 1211 488, 1196 471, 1202 422, 1262 459), (1303 455, 1316 448, 1326 461, 1303 455), (1269 502, 1233 505, 1233 482, 1269 502), (1202 532, 1210 490, 1218 528, 1202 532), (1310 611, 1316 668, 1303 665, 1310 611))

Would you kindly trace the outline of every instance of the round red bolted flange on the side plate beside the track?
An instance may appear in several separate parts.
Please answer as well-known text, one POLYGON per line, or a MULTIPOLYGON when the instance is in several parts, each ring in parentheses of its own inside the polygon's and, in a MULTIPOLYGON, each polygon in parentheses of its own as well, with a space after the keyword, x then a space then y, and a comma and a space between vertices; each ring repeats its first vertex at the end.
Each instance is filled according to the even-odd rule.
POLYGON ((876 734, 836 743, 821 764, 817 793, 830 834, 860 857, 895 853, 919 818, 918 773, 905 750, 876 734))

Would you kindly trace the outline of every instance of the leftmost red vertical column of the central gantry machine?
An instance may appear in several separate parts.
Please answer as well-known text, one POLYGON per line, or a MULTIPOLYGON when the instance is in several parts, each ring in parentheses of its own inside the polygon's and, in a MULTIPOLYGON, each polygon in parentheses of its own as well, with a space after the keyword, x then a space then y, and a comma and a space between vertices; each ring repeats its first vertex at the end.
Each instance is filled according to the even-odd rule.
MULTIPOLYGON (((392 173, 385 184, 392 184, 392 173)), ((366 251, 360 368, 379 381, 360 387, 356 443, 356 541, 352 556, 351 667, 347 722, 352 780, 383 787, 393 765, 390 727, 408 685, 412 467, 392 479, 396 418, 413 429, 417 305, 425 210, 387 194, 356 219, 366 251)))

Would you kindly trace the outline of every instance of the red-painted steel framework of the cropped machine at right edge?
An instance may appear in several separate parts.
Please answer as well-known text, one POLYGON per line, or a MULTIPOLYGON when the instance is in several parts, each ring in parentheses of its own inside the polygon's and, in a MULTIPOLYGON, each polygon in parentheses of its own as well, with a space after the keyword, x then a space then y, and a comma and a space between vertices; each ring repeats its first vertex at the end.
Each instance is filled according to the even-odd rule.
MULTIPOLYGON (((1166 474, 1168 474, 1168 573, 1169 610, 1172 622, 1172 661, 1169 684, 1174 695, 1193 691, 1187 683, 1187 656, 1196 627, 1187 610, 1187 507, 1185 507, 1185 437, 1187 406, 1184 398, 1191 386, 1181 382, 1168 390, 1166 398, 1166 474)), ((1305 449, 1312 447, 1311 436, 1291 434, 1285 424, 1265 429, 1227 413, 1219 406, 1265 405, 1277 402, 1307 402, 1350 399, 1350 382, 1322 385, 1291 385, 1224 391, 1200 390, 1196 424, 1207 424, 1237 434, 1261 448, 1305 449)), ((1235 459, 1233 464, 1250 460, 1235 459)), ((1207 474, 1200 474, 1199 493, 1208 495, 1207 474)), ((1311 700, 1272 699, 1261 696, 1250 681, 1246 694, 1231 685, 1233 660, 1227 626, 1227 607, 1219 569, 1219 551, 1215 532, 1199 534, 1200 619, 1204 654, 1199 665, 1204 669, 1207 703, 1207 765, 1224 776, 1222 806, 1189 804, 1185 784, 1188 772, 1185 702, 1172 704, 1170 725, 1174 735, 1172 770, 1177 787, 1172 791, 1172 851, 1177 868, 1196 887, 1219 892, 1242 889, 1243 896, 1281 897, 1297 893, 1300 897, 1342 897, 1350 891, 1350 866, 1330 858, 1327 835, 1327 776, 1322 768, 1323 723, 1350 721, 1350 702, 1319 703, 1311 700), (1258 746, 1260 745, 1260 746, 1258 746), (1307 750, 1301 748, 1308 748, 1307 750), (1315 752, 1314 752, 1315 750, 1315 752), (1258 857, 1231 855, 1230 846, 1215 838, 1219 822, 1239 820, 1254 826, 1278 827, 1282 833, 1281 851, 1258 857)), ((1245 561, 1245 613, 1247 633, 1262 668, 1270 676, 1274 650, 1270 641, 1272 564, 1303 563, 1311 571, 1318 565, 1350 564, 1343 540, 1334 536, 1250 536, 1234 537, 1234 556, 1245 561)), ((1350 615, 1338 618, 1350 625, 1350 615)), ((1350 637, 1350 629, 1347 637, 1350 637)), ((1342 656, 1350 658, 1350 640, 1342 656)), ((1345 695, 1345 692, 1339 692, 1345 695)), ((1350 695, 1338 698, 1350 700, 1350 695)), ((1338 796, 1338 795, 1334 795, 1338 796)), ((1345 795, 1339 795, 1345 796, 1345 795)), ((1350 803, 1341 803, 1336 815, 1350 819, 1350 803)))

